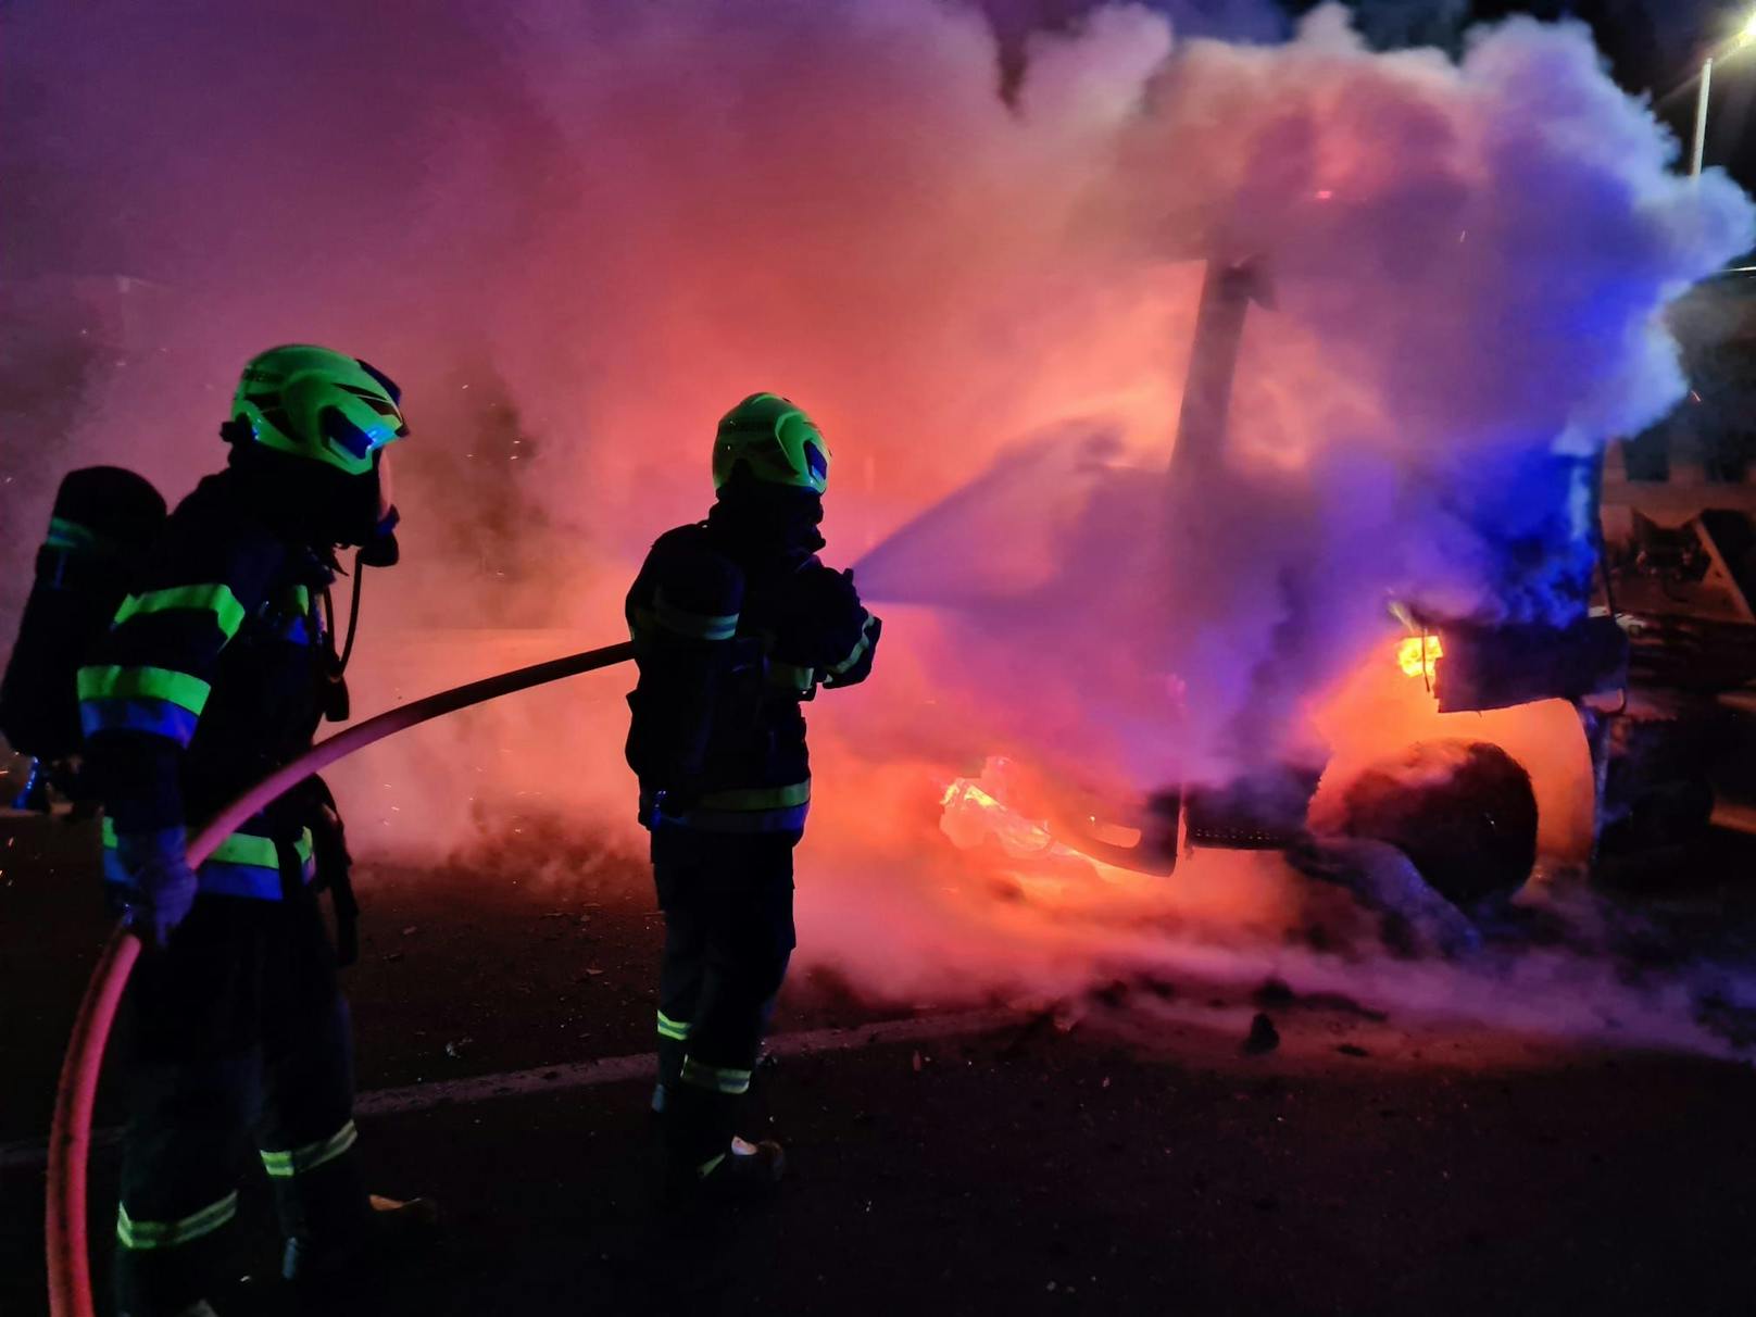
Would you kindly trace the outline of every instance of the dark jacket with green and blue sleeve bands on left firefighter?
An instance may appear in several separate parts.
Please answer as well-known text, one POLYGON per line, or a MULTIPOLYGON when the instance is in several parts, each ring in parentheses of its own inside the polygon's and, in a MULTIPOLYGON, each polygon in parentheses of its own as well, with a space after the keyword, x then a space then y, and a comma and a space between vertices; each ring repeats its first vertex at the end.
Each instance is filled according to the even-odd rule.
MULTIPOLYGON (((330 688, 318 601, 334 560, 284 520, 237 469, 204 479, 79 669, 112 883, 128 883, 118 832, 193 831, 311 746, 330 688)), ((269 806, 200 867, 200 890, 276 901, 283 883, 309 883, 311 817, 300 792, 269 806)))

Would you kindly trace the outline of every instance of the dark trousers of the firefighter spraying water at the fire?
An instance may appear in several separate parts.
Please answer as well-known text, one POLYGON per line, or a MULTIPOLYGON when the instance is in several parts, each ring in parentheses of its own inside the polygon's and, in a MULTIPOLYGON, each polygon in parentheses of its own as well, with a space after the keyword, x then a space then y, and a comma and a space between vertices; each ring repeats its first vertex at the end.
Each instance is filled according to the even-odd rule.
POLYGON ((730 1145, 739 1098, 794 948, 797 832, 653 831, 664 910, 658 1080, 673 1159, 704 1162, 730 1145))

